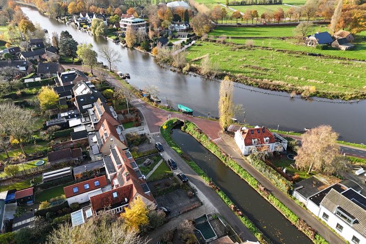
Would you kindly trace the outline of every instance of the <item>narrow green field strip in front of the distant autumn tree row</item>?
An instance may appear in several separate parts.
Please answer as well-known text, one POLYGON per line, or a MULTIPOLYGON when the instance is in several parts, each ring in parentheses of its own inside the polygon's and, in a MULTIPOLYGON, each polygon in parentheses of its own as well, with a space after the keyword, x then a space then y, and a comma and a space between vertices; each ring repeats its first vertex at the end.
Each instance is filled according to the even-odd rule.
MULTIPOLYGON (((209 35, 227 37, 293 37, 295 26, 281 27, 217 27, 209 35)), ((327 31, 327 27, 316 27, 315 32, 327 31)))

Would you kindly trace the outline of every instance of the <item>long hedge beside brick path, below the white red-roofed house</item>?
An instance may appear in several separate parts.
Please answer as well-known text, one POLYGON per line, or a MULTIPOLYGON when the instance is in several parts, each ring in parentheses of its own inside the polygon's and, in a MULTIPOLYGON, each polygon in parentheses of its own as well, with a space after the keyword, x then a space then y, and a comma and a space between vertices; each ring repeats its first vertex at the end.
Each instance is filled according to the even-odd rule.
POLYGON ((272 169, 269 165, 264 163, 262 160, 258 159, 257 156, 251 155, 247 157, 249 164, 252 165, 256 170, 258 170, 264 177, 269 179, 273 185, 275 185, 279 190, 284 193, 289 193, 292 190, 292 182, 285 179, 279 172, 272 169))

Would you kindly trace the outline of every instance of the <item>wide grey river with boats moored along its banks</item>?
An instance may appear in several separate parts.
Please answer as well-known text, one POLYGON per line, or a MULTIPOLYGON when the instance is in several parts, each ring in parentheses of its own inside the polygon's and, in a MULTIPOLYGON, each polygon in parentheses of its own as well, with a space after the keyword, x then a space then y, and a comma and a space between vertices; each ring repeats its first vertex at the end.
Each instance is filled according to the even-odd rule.
MULTIPOLYGON (((34 8, 22 7, 22 10, 34 23, 38 22, 42 28, 46 28, 49 36, 52 36, 52 32, 59 34, 67 30, 78 43, 92 43, 98 53, 104 45, 117 49, 121 58, 115 69, 130 73, 130 83, 139 88, 158 86, 159 97, 163 102, 168 99, 174 106, 186 105, 194 110, 194 115, 218 116, 219 82, 162 69, 154 57, 145 53, 89 36, 73 26, 49 19, 34 8)), ((99 60, 105 61, 101 57, 99 60)), ((236 84, 234 88, 234 102, 243 104, 246 122, 251 125, 275 129, 279 126, 280 130, 302 131, 303 128, 325 124, 331 125, 340 134, 340 140, 366 144, 366 101, 349 104, 319 100, 323 101, 307 101, 298 97, 293 99, 287 93, 243 84, 236 84)), ((238 117, 238 120, 243 121, 243 116, 238 117)))

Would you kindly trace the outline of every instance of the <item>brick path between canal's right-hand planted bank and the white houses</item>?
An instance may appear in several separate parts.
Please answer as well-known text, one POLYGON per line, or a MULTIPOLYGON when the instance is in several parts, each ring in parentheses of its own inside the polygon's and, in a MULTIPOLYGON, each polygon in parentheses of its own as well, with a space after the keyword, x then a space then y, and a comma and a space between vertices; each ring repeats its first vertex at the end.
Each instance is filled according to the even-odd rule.
POLYGON ((316 219, 308 210, 303 209, 297 203, 294 202, 285 193, 277 189, 272 183, 265 178, 261 173, 249 165, 241 156, 239 148, 237 148, 234 139, 227 134, 221 133, 223 141, 217 143, 218 146, 231 158, 235 160, 243 169, 247 170, 253 177, 255 177, 260 184, 267 188, 273 195, 275 195, 283 204, 285 204, 290 210, 292 210, 299 218, 306 221, 312 228, 318 231, 318 233, 324 237, 329 243, 345 243, 340 237, 334 234, 327 226, 323 225, 318 219, 316 219))

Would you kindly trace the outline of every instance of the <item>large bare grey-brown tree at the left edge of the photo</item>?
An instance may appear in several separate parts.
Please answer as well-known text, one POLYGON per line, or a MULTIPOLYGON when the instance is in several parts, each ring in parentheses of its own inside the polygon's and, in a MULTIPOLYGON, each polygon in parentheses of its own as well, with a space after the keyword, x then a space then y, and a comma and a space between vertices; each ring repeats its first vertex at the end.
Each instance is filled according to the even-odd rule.
POLYGON ((26 155, 23 142, 31 135, 35 119, 31 110, 25 110, 13 103, 0 104, 0 129, 7 130, 18 140, 20 149, 26 155))

